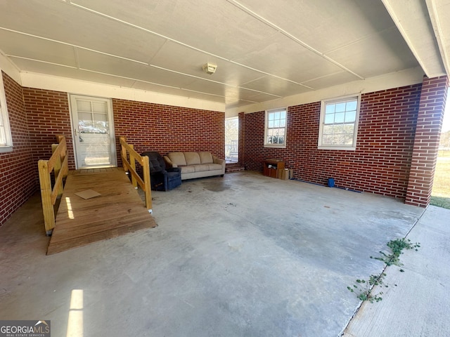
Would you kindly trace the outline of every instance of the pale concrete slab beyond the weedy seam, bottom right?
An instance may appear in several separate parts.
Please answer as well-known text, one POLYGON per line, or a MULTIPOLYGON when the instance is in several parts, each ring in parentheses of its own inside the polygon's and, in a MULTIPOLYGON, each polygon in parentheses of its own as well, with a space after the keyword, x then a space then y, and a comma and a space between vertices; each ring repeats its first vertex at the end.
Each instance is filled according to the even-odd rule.
POLYGON ((420 248, 404 251, 401 267, 387 267, 383 300, 361 305, 343 336, 450 335, 449 219, 449 209, 428 207, 407 236, 420 248))

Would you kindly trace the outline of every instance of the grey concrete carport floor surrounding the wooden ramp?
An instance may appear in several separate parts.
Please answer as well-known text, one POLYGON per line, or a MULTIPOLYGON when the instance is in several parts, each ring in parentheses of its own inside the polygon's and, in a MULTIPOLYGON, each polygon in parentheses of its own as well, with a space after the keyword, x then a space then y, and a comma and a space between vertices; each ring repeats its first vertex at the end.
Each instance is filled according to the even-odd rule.
POLYGON ((423 214, 248 171, 153 198, 158 227, 53 256, 30 199, 0 227, 0 319, 51 320, 55 337, 340 336, 361 305, 347 286, 423 214))

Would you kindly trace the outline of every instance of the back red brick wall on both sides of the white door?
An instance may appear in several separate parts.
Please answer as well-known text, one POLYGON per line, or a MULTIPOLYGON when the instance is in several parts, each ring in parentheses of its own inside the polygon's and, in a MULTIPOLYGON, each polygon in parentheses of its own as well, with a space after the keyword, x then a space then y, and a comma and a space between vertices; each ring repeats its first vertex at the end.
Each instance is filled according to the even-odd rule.
MULTIPOLYGON (((68 93, 23 88, 23 97, 33 162, 48 159, 56 135, 62 134, 68 142, 69 169, 75 169, 68 93)), ((113 99, 113 112, 119 165, 119 136, 127 137, 138 152, 205 150, 224 157, 223 112, 117 99, 113 99)))

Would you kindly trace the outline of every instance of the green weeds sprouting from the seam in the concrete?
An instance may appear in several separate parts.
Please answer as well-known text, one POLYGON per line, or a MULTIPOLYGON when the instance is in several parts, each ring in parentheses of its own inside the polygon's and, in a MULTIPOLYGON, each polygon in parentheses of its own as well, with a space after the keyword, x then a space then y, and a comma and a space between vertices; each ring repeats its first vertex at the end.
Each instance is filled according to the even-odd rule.
MULTIPOLYGON (((388 265, 402 265, 400 263, 400 255, 403 253, 402 251, 404 249, 415 249, 416 251, 418 251, 420 244, 418 242, 413 244, 409 239, 395 239, 387 242, 387 246, 390 248, 391 253, 380 251, 379 253, 381 254, 381 256, 371 256, 371 258, 375 258, 375 260, 383 261, 385 263, 384 269, 386 269, 388 265)), ((404 270, 401 269, 400 272, 404 272, 404 270)), ((381 295, 383 295, 383 291, 380 291, 379 293, 373 293, 373 288, 375 286, 381 285, 387 288, 387 284, 384 284, 383 282, 385 276, 385 272, 382 272, 378 276, 371 275, 368 280, 356 279, 356 284, 354 284, 353 286, 347 286, 347 289, 352 293, 358 293, 357 297, 362 301, 368 300, 371 303, 379 302, 380 300, 383 300, 383 298, 381 297, 381 295)))

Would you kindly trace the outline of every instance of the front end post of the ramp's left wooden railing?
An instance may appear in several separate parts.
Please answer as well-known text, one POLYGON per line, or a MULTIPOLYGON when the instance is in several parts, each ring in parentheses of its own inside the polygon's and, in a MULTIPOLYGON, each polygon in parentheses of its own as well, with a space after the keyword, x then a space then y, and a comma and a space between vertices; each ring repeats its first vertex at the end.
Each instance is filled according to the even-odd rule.
POLYGON ((39 160, 37 163, 39 170, 39 184, 41 185, 42 211, 44 213, 44 225, 47 235, 51 235, 55 227, 55 211, 51 203, 51 181, 49 164, 46 160, 39 160))

